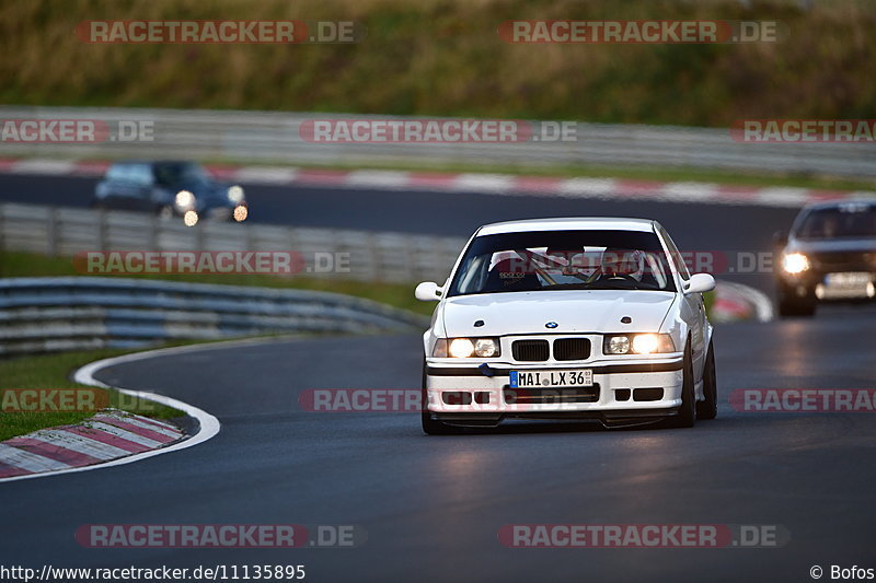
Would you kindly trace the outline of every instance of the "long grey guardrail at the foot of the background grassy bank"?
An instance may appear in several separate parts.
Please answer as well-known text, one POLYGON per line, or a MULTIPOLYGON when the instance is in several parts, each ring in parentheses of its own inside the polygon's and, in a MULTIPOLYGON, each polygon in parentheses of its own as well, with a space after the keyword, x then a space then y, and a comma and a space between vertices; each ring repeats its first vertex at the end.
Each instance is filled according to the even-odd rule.
POLYGON ((154 141, 103 143, 0 142, 0 155, 184 158, 288 164, 610 164, 876 176, 867 143, 741 143, 727 129, 578 124, 575 141, 518 143, 311 143, 299 133, 310 119, 404 119, 178 109, 0 107, 0 119, 149 121, 154 141))

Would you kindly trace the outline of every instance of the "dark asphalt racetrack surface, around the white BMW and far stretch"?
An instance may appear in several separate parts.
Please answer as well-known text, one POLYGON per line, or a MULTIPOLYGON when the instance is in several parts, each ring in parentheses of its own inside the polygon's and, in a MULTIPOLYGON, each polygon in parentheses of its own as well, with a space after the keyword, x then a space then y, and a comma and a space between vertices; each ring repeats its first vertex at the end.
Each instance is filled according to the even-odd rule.
MULTIPOLYGON (((262 203, 274 197, 288 224, 461 235, 507 218, 649 215, 683 249, 768 250, 772 231, 794 214, 489 195, 459 198, 462 213, 442 198, 461 195, 263 188, 262 203)), ((716 327, 719 416, 683 430, 528 422, 426 436, 415 413, 299 407, 309 388, 418 388, 416 335, 205 347, 113 366, 95 376, 200 407, 222 431, 137 464, 0 485, 0 564, 306 564, 310 581, 526 582, 810 581, 815 564, 876 567, 873 413, 741 412, 727 403, 738 388, 873 388, 875 334, 872 306, 716 327), (85 549, 73 538, 83 524, 226 523, 354 524, 368 540, 355 549, 197 550, 85 549), (791 539, 760 549, 499 543, 503 525, 528 523, 782 525, 791 539)))

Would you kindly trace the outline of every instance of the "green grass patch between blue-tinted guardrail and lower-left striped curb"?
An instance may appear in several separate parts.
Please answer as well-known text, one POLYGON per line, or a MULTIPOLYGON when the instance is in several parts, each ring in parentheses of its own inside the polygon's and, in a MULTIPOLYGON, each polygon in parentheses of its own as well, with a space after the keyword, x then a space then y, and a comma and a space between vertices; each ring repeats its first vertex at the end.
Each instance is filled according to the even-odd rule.
MULTIPOLYGON (((124 350, 87 350, 64 352, 58 354, 42 354, 35 357, 21 357, 0 360, 0 403, 14 404, 19 395, 5 395, 10 388, 37 388, 37 389, 66 389, 89 388, 101 396, 94 400, 99 404, 108 404, 110 407, 130 411, 132 413, 151 417, 154 419, 171 419, 185 413, 136 397, 123 395, 114 389, 88 387, 70 380, 72 372, 89 362, 123 354, 124 350)), ((14 407, 13 407, 14 408, 14 407)), ((61 406, 60 409, 76 408, 61 406)), ((92 417, 94 411, 85 410, 58 410, 58 411, 4 411, 0 412, 0 441, 15 435, 23 435, 37 429, 73 424, 92 417)))

